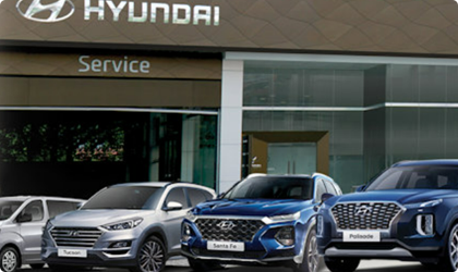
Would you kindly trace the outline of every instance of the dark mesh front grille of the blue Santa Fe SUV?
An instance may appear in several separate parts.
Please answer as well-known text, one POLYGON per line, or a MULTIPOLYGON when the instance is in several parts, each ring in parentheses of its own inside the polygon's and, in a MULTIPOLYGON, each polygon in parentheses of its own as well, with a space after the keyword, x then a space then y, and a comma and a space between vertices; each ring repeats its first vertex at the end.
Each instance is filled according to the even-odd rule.
POLYGON ((261 220, 205 219, 195 221, 202 238, 206 240, 251 242, 264 226, 261 220))

